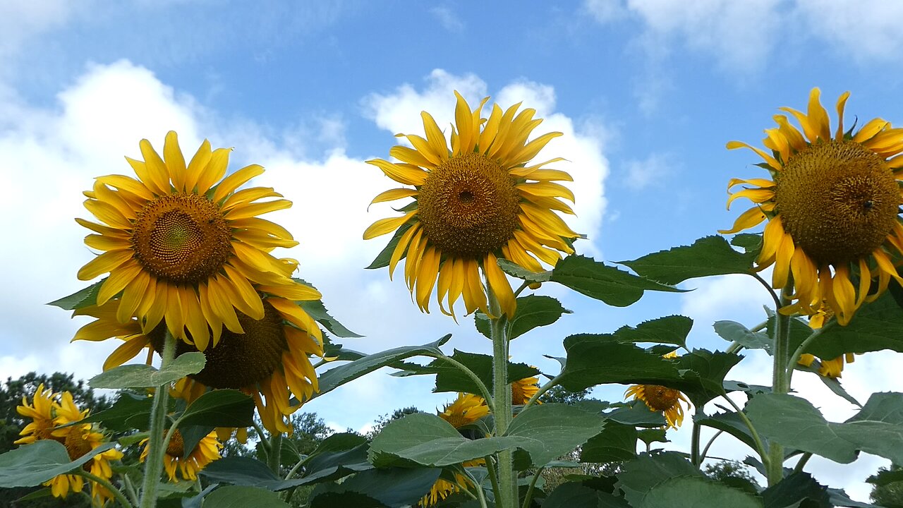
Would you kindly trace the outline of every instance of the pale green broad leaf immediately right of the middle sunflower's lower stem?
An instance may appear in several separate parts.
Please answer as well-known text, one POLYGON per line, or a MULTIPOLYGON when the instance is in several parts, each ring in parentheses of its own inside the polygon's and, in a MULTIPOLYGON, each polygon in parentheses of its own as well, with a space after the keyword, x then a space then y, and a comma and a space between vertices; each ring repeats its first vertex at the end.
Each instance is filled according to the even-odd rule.
POLYGON ((505 436, 522 437, 532 465, 545 466, 581 446, 605 426, 600 415, 568 404, 533 405, 511 420, 505 436))

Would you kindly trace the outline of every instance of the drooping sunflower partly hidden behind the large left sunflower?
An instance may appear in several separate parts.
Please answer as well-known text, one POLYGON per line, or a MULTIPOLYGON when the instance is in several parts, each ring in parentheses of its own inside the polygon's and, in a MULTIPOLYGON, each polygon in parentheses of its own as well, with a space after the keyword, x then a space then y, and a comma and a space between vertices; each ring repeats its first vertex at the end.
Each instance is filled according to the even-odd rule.
MULTIPOLYGON (((264 315, 254 319, 237 312, 237 321, 244 333, 225 330, 219 343, 202 353, 207 359, 204 369, 191 374, 182 386, 183 393, 197 398, 210 388, 242 390, 254 398, 260 419, 271 432, 291 430, 285 417, 309 400, 319 390, 316 372, 309 355, 322 356, 322 334, 312 317, 293 301, 294 287, 269 288, 275 293, 261 294, 264 315), (290 299, 292 298, 292 299, 290 299), (294 395, 298 404, 291 404, 294 395)), ((97 320, 82 326, 75 339, 102 341, 117 337, 125 341, 104 362, 104 369, 112 369, 127 362, 148 348, 162 351, 163 324, 145 333, 136 319, 125 325, 116 321, 119 302, 109 300, 101 306, 88 306, 75 315, 90 315, 97 320)), ((189 335, 191 339, 191 335, 189 335)), ((191 343, 176 343, 176 355, 198 351, 191 343)), ((193 399, 191 399, 193 400, 193 399)))

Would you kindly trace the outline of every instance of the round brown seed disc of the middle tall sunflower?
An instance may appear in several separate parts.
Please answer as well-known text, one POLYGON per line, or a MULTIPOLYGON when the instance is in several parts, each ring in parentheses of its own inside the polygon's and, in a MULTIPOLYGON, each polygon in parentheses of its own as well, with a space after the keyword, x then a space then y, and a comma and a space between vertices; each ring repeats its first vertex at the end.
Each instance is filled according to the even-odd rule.
POLYGON ((514 236, 519 202, 505 168, 486 155, 465 154, 430 172, 417 207, 426 238, 443 254, 479 259, 514 236))

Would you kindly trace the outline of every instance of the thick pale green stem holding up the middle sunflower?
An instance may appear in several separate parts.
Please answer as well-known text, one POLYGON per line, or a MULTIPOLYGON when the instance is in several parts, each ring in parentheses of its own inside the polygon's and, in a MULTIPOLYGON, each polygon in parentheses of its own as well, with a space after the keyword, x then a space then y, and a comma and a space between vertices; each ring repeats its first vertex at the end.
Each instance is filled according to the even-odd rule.
MULTIPOLYGON (((511 387, 507 382, 507 319, 502 314, 498 298, 487 284, 487 296, 489 296, 490 336, 492 337, 492 392, 495 412, 496 436, 504 436, 508 424, 511 421, 511 387)), ((499 508, 515 508, 517 503, 517 482, 514 475, 514 456, 511 450, 498 452, 498 498, 499 508)))

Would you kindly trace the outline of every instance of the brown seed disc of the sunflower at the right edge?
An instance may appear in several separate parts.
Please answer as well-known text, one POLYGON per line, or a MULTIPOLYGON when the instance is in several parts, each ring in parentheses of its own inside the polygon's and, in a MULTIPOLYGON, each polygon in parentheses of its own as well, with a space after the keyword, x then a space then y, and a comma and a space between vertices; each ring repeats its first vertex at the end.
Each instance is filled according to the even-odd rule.
POLYGON ((897 221, 897 181, 859 143, 830 141, 790 155, 775 183, 784 229, 819 265, 868 256, 897 221))

